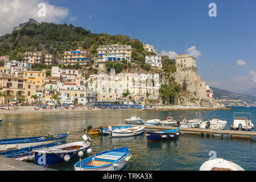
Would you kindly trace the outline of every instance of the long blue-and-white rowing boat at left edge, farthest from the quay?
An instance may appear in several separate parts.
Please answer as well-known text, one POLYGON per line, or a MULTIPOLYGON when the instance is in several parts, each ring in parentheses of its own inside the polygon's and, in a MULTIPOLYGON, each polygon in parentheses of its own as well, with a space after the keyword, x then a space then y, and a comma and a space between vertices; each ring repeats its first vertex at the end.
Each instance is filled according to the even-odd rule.
POLYGON ((39 137, 0 139, 0 152, 31 146, 39 146, 53 142, 61 143, 67 140, 68 134, 69 132, 65 134, 44 135, 39 137))

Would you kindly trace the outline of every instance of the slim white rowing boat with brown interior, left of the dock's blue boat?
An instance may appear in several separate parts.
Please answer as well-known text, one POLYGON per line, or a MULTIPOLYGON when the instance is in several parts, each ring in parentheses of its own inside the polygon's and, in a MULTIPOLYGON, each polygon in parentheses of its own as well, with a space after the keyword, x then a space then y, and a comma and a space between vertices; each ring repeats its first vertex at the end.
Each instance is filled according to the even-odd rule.
POLYGON ((144 125, 130 127, 128 129, 119 129, 112 131, 112 137, 131 137, 142 134, 144 132, 144 125))

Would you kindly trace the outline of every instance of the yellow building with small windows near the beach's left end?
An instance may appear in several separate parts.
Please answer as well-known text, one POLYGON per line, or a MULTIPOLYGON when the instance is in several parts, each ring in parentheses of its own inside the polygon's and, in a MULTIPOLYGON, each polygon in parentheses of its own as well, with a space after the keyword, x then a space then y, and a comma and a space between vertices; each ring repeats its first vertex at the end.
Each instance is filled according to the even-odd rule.
POLYGON ((35 88, 40 89, 44 84, 44 79, 46 78, 46 70, 43 71, 23 71, 23 78, 27 82, 34 82, 35 88))

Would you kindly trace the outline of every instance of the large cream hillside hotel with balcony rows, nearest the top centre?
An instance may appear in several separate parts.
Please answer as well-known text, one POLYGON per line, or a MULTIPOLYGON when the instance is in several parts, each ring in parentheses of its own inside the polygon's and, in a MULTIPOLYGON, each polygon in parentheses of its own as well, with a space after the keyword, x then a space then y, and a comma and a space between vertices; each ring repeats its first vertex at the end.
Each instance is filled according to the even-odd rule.
POLYGON ((97 48, 98 63, 106 61, 131 61, 131 46, 113 44, 111 46, 100 46, 97 48))

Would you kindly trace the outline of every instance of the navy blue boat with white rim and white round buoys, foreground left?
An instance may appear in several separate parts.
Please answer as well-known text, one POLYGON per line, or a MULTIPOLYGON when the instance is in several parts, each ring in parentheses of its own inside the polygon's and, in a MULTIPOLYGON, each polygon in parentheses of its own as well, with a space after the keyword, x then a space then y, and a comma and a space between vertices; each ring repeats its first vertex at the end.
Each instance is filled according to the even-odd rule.
POLYGON ((92 152, 88 142, 89 137, 86 134, 82 137, 85 141, 32 150, 35 154, 35 164, 44 167, 56 166, 75 160, 85 153, 92 152))

